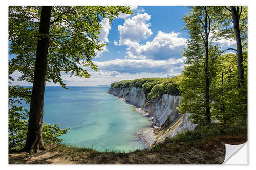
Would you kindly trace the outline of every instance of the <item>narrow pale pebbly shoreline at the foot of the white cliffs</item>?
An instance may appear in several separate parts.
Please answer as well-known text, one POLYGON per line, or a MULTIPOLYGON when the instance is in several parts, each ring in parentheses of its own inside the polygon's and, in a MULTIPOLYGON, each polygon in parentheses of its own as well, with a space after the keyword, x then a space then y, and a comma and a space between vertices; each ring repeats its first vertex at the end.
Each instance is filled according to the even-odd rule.
MULTIPOLYGON (((106 93, 110 94, 109 92, 106 92, 106 93)), ((113 94, 110 94, 110 95, 113 95, 113 94)), ((133 105, 132 103, 127 102, 122 97, 118 97, 118 96, 115 96, 115 95, 113 95, 113 96, 118 98, 118 99, 120 99, 120 100, 122 100, 122 101, 124 101, 127 104, 133 105)), ((135 106, 135 105, 133 105, 133 106, 135 106)), ((139 139, 144 141, 144 143, 147 145, 148 148, 151 148, 152 145, 155 142, 157 142, 157 139, 154 136, 154 130, 159 127, 158 126, 159 123, 156 121, 156 118, 154 116, 151 116, 150 113, 144 111, 143 107, 135 106, 134 111, 139 113, 139 114, 142 114, 145 117, 147 117, 149 122, 151 123, 151 127, 139 130, 139 132, 136 135, 136 136, 138 136, 139 139)))

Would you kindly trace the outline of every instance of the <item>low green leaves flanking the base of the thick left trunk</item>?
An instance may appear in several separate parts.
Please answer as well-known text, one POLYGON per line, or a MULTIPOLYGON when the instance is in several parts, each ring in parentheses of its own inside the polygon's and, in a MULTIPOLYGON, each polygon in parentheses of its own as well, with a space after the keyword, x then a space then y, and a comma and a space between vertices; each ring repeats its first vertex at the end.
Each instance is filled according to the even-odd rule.
MULTIPOLYGON (((18 106, 24 98, 17 98, 22 93, 29 94, 29 89, 20 86, 9 86, 9 121, 8 144, 9 150, 20 150, 24 147, 28 131, 29 111, 23 106, 18 106), (14 90, 15 89, 15 90, 14 90), (18 92, 17 92, 18 91, 18 92), (18 95, 19 94, 19 95, 18 95)), ((29 102, 29 101, 27 101, 29 102)), ((60 143, 63 139, 58 137, 66 134, 68 129, 61 129, 56 125, 44 124, 43 138, 46 144, 60 143)))

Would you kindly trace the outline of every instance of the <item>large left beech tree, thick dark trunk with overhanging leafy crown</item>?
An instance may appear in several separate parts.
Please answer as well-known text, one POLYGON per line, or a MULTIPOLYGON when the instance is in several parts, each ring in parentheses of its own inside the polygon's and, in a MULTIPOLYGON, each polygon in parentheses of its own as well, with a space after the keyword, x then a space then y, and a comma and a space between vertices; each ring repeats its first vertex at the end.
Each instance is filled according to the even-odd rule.
POLYGON ((44 93, 46 81, 66 88, 61 73, 89 78, 86 68, 93 64, 96 50, 106 44, 98 40, 100 22, 110 23, 118 13, 133 14, 126 6, 10 6, 9 60, 11 74, 18 80, 33 83, 30 96, 28 133, 24 150, 30 153, 45 150, 42 137, 44 93))

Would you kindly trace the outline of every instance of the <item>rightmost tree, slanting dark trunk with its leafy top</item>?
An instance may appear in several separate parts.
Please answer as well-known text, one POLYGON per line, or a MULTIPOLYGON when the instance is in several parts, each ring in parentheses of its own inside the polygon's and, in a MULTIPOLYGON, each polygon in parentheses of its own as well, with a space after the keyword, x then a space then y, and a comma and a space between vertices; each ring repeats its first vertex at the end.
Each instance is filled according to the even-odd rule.
MULTIPOLYGON (((239 86, 244 83, 244 55, 247 49, 247 6, 219 7, 215 12, 215 20, 219 29, 216 32, 219 38, 236 40, 237 69, 239 86)), ((243 84, 244 85, 244 84, 243 84)))

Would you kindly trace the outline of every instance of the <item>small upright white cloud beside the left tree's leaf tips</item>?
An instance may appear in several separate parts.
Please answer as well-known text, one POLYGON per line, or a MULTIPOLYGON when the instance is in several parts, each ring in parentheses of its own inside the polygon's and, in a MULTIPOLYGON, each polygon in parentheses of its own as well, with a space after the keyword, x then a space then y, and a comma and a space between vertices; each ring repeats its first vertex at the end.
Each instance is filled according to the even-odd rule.
MULTIPOLYGON (((109 42, 108 35, 109 35, 109 30, 111 29, 110 23, 109 23, 109 18, 104 18, 100 22, 100 25, 102 27, 100 29, 100 34, 99 34, 99 41, 100 41, 100 43, 109 42)), ((95 58, 101 57, 104 52, 108 52, 109 51, 106 46, 104 46, 102 49, 103 50, 95 50, 95 53, 96 53, 95 58)))

